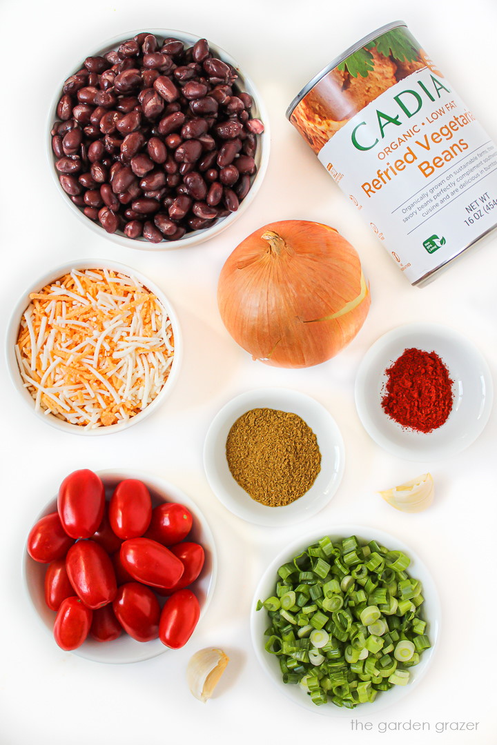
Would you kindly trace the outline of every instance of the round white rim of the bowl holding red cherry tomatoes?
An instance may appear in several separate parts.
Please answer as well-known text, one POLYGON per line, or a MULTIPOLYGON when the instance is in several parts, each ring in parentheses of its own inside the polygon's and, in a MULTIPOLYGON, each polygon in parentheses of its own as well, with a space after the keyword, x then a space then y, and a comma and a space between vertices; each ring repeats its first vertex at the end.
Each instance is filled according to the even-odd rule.
MULTIPOLYGON (((199 523, 199 526, 203 533, 206 533, 208 539, 209 539, 209 555, 210 555, 210 561, 211 561, 211 568, 210 568, 210 580, 209 580, 209 589, 208 592, 206 592, 206 598, 203 602, 203 605, 200 607, 200 618, 198 623, 200 624, 200 621, 202 620, 203 616, 206 614, 207 609, 209 608, 209 605, 212 600, 212 595, 215 590, 215 585, 218 577, 218 553, 217 548, 215 545, 214 536, 212 533, 212 529, 209 525, 209 522, 206 519, 205 514, 203 513, 203 510, 198 506, 198 504, 189 496, 186 494, 186 492, 183 492, 183 489, 180 489, 179 486, 176 486, 176 484, 173 484, 171 481, 166 481, 165 479, 162 479, 159 476, 153 475, 151 473, 137 470, 137 469, 102 469, 102 470, 96 470, 95 473, 100 476, 102 481, 109 481, 112 483, 113 481, 122 481, 125 478, 136 478, 139 479, 139 481, 143 481, 146 486, 148 486, 153 492, 161 492, 161 494, 169 495, 171 494, 174 499, 180 502, 180 504, 184 504, 185 507, 188 507, 189 510, 191 510, 191 513, 194 516, 194 520, 197 520, 199 523)), ((53 504, 55 501, 55 510, 57 510, 57 495, 49 500, 45 507, 43 507, 42 510, 38 513, 36 518, 34 519, 33 525, 36 524, 36 522, 42 518, 47 513, 47 510, 50 508, 50 505, 53 504)), ((31 526, 32 527, 32 526, 31 526)), ((31 528, 30 528, 31 530, 31 528)), ((28 567, 28 561, 34 562, 33 559, 28 554, 27 551, 27 540, 25 542, 25 545, 23 546, 23 554, 22 554, 22 584, 25 591, 25 597, 28 601, 29 605, 31 606, 31 609, 34 612, 34 615, 36 615, 38 621, 40 624, 42 624, 42 627, 48 632, 48 634, 51 636, 53 641, 53 635, 51 628, 48 627, 48 624, 45 623, 43 618, 39 615, 37 608, 34 606, 33 598, 31 597, 31 590, 28 583, 27 578, 27 567, 28 567)), ((48 566, 48 564, 40 566, 48 566)), ((151 659, 153 657, 159 656, 160 654, 163 654, 165 652, 168 652, 168 647, 165 646, 165 644, 162 644, 159 639, 153 639, 153 641, 148 642, 138 642, 133 640, 131 637, 126 637, 123 635, 119 638, 125 638, 126 641, 130 641, 131 644, 133 644, 133 648, 136 649, 136 652, 140 653, 136 657, 133 657, 133 659, 115 659, 115 657, 110 653, 109 647, 107 647, 107 651, 109 651, 108 654, 106 654, 106 644, 112 644, 112 642, 103 642, 101 645, 99 644, 98 647, 95 646, 95 649, 97 649, 99 652, 101 652, 98 656, 92 656, 91 654, 86 652, 86 648, 83 644, 82 647, 78 647, 75 650, 72 650, 72 653, 77 655, 78 657, 81 657, 83 659, 87 659, 90 662, 102 662, 102 663, 109 663, 109 664, 115 664, 115 665, 125 665, 135 662, 144 662, 147 659, 151 659), (136 646, 135 646, 136 645, 136 646)), ((118 640, 116 640, 118 641, 118 640)), ((55 643, 55 647, 57 647, 57 644, 55 643)), ((60 650, 63 651, 63 650, 60 650)))

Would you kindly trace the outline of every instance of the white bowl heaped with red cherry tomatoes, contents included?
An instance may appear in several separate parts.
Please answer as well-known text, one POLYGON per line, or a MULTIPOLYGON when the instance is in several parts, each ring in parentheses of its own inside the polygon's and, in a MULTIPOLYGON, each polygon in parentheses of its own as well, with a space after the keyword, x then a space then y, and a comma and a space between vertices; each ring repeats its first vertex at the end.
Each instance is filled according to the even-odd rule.
POLYGON ((142 472, 80 469, 26 542, 28 599, 54 644, 129 663, 183 647, 209 606, 215 543, 184 492, 142 472))

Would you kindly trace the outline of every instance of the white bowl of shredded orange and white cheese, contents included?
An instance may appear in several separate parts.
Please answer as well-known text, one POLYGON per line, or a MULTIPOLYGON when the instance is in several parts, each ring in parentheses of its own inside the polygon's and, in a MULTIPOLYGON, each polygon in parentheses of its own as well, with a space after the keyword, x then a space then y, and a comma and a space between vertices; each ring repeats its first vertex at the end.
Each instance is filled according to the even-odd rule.
POLYGON ((148 416, 180 365, 171 304, 116 262, 72 261, 19 299, 7 330, 10 377, 41 419, 74 434, 110 434, 148 416))

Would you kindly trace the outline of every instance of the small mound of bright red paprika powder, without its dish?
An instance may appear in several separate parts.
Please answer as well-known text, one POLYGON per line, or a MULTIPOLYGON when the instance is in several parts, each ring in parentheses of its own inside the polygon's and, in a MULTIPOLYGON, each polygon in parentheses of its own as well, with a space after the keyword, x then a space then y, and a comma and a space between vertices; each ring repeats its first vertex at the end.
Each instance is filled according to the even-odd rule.
POLYGON ((431 432, 452 410, 452 380, 435 352, 405 349, 385 370, 388 375, 382 408, 402 427, 431 432))

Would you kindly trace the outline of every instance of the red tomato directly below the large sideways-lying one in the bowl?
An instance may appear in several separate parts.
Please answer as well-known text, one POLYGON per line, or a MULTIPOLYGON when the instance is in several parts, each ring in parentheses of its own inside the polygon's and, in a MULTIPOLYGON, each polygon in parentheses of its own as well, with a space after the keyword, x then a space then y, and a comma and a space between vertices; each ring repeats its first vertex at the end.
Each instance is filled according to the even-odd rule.
POLYGON ((138 582, 121 585, 113 610, 124 631, 136 641, 151 641, 159 635, 159 600, 150 587, 138 582))

